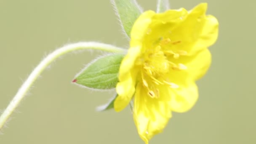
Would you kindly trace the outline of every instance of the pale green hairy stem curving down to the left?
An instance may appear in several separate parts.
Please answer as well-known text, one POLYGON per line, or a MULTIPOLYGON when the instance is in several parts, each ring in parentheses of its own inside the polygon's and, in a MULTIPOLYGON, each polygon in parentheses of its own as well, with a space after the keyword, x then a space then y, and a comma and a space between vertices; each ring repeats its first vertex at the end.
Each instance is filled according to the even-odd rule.
POLYGON ((108 45, 104 43, 97 43, 97 42, 80 42, 80 43, 74 43, 65 45, 61 48, 56 49, 52 53, 50 53, 48 56, 41 61, 37 67, 31 72, 27 80, 21 85, 21 88, 19 88, 19 91, 16 93, 16 95, 13 97, 12 101, 8 105, 8 107, 4 110, 3 114, 0 116, 0 130, 3 128, 3 125, 8 120, 8 118, 11 116, 13 111, 18 107, 21 100, 24 98, 25 94, 31 87, 31 85, 35 82, 37 77, 43 72, 43 70, 48 67, 51 62, 53 62, 55 59, 57 59, 59 56, 62 56, 66 53, 69 53, 71 51, 81 50, 81 49, 94 49, 94 50, 101 50, 101 51, 108 51, 108 52, 115 52, 115 53, 123 53, 126 50, 122 48, 117 48, 113 45, 108 45))

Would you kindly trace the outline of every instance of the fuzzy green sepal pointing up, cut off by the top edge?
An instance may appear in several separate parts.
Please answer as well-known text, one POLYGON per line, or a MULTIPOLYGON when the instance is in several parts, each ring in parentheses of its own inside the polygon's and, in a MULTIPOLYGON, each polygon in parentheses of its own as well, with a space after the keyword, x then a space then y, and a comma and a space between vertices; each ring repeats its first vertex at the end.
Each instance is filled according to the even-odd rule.
POLYGON ((111 2, 119 17, 123 30, 130 37, 134 22, 143 12, 142 8, 136 0, 111 0, 111 2))

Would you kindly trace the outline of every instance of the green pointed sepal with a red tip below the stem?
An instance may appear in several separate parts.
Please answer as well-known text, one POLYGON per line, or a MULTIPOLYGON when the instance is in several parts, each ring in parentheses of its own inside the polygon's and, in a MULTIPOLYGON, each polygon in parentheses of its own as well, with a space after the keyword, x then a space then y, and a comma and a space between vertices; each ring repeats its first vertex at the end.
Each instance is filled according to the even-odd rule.
POLYGON ((100 57, 79 72, 73 82, 88 88, 115 88, 118 82, 117 75, 120 63, 123 57, 123 54, 100 57))

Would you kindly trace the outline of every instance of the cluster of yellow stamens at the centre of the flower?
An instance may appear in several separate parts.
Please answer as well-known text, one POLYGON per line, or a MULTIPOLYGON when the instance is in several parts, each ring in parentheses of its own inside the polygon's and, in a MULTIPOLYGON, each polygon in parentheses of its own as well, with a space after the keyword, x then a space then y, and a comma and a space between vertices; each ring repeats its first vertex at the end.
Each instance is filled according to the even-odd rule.
POLYGON ((171 70, 187 69, 184 64, 175 64, 171 59, 179 59, 180 56, 187 55, 186 51, 172 51, 171 46, 181 43, 181 41, 171 41, 169 38, 160 39, 152 48, 148 48, 141 59, 143 59, 141 69, 141 79, 143 86, 147 88, 147 94, 152 98, 159 97, 158 85, 167 85, 171 88, 179 86, 164 77, 171 70))

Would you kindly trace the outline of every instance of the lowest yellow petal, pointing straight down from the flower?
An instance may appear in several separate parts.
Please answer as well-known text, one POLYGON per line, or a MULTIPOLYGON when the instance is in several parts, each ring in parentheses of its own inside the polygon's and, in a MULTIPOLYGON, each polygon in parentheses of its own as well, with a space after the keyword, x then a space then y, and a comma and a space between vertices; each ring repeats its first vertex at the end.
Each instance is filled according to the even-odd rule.
POLYGON ((166 86, 158 86, 160 97, 152 98, 141 83, 137 85, 133 118, 139 136, 146 144, 155 134, 163 131, 171 118, 169 105, 171 96, 166 88, 166 86))

